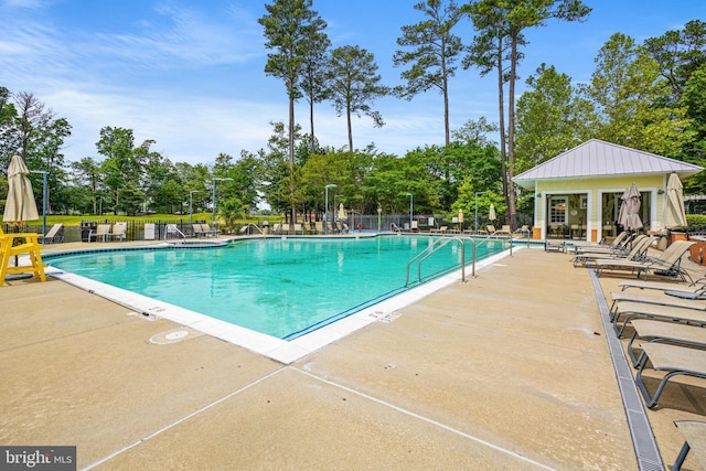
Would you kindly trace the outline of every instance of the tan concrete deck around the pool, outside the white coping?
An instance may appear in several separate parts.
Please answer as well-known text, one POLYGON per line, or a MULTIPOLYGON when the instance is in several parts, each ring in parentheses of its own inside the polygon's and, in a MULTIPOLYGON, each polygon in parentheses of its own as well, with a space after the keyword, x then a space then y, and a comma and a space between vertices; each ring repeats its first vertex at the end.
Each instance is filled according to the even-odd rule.
MULTIPOLYGON (((515 250, 290 364, 56 279, 12 281, 0 443, 73 445, 78 469, 106 470, 639 469, 614 334, 570 258, 515 250)), ((598 280, 609 295, 621 279, 598 280)), ((706 414, 687 383, 646 410, 664 467, 673 420, 706 414)))

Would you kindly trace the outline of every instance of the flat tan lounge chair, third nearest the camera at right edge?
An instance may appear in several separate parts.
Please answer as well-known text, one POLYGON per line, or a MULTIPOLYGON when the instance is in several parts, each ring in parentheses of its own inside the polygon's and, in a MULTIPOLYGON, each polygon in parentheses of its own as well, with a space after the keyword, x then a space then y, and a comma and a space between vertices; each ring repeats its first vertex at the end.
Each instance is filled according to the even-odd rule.
POLYGON ((706 347, 706 329, 700 327, 651 319, 635 319, 632 321, 632 328, 634 332, 628 342, 627 351, 634 367, 640 365, 644 355, 644 352, 640 356, 635 355, 633 343, 638 339, 646 342, 706 347))

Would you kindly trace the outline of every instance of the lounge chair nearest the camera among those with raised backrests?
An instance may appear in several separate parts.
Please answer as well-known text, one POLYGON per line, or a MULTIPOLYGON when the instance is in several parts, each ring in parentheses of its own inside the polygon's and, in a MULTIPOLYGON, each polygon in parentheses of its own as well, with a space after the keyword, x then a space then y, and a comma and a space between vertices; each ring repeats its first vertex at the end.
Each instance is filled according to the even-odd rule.
POLYGON ((684 281, 688 277, 691 281, 691 275, 682 268, 682 257, 694 244, 695 243, 691 240, 676 240, 672 243, 660 257, 648 257, 644 260, 596 260, 596 276, 600 277, 606 269, 628 269, 632 272, 637 270, 638 278, 641 272, 644 272, 645 280, 648 275, 652 272, 661 276, 680 277, 684 281))

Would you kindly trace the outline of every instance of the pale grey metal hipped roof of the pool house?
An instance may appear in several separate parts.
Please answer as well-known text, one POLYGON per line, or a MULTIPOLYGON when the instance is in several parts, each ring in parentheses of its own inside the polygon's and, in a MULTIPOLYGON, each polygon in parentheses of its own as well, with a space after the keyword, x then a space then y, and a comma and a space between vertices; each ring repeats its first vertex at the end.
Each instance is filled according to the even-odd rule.
POLYGON ((537 180, 586 179, 591 176, 649 175, 676 172, 681 179, 704 170, 629 147, 591 139, 515 176, 521 186, 533 188, 537 180))

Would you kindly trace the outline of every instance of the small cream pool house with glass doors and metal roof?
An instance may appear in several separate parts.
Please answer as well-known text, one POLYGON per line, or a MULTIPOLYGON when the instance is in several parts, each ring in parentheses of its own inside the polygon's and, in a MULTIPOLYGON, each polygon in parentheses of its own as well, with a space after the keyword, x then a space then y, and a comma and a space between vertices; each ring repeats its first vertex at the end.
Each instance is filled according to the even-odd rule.
POLYGON ((680 179, 702 167, 650 152, 591 139, 516 175, 533 191, 534 238, 598 242, 618 234, 620 197, 635 183, 642 196, 640 218, 645 231, 663 228, 662 208, 672 172, 680 179))

